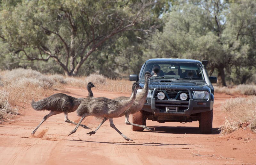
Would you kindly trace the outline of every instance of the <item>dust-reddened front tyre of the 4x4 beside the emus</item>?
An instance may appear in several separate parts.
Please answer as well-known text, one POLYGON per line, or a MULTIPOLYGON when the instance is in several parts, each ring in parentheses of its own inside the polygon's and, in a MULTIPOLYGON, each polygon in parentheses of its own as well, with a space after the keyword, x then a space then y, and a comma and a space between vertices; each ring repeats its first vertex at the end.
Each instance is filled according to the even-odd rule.
MULTIPOLYGON (((143 111, 132 114, 132 123, 146 126, 146 116, 143 111)), ((138 126, 132 126, 132 131, 143 131, 144 128, 138 126)))

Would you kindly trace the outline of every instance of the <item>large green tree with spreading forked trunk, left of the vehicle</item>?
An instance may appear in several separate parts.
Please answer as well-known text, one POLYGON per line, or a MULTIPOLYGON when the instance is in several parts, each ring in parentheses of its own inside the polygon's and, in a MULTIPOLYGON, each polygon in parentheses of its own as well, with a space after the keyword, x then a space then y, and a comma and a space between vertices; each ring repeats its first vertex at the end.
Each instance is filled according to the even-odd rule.
POLYGON ((15 2, 3 5, 8 7, 0 13, 1 38, 20 59, 54 59, 66 75, 77 75, 88 57, 115 35, 146 30, 156 4, 148 0, 15 2))

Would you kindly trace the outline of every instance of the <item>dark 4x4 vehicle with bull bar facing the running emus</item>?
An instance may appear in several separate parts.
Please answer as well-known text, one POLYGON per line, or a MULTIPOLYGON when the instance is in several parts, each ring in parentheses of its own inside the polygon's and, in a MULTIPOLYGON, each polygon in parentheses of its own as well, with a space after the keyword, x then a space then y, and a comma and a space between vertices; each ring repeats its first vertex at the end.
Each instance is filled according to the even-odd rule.
MULTIPOLYGON (((150 59, 140 70, 140 75, 130 75, 131 81, 139 81, 143 87, 144 73, 154 75, 149 78, 149 91, 141 111, 133 114, 133 123, 146 125, 146 119, 164 122, 199 121, 201 133, 212 133, 212 110, 216 77, 208 77, 207 61, 190 59, 150 59)), ((140 92, 140 91, 137 91, 140 92)), ((143 128, 132 126, 133 131, 143 128)))

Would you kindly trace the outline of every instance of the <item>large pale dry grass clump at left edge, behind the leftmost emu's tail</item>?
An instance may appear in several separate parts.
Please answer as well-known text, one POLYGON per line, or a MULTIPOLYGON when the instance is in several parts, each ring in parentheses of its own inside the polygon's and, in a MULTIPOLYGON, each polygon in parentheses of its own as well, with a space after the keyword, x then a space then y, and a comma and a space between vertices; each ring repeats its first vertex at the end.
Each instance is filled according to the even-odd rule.
MULTIPOLYGON (((52 94, 56 80, 31 69, 17 68, 1 72, 3 89, 8 91, 9 103, 30 102, 52 94)), ((56 78, 57 79, 57 78, 56 78)), ((57 82, 60 82, 58 80, 57 82)))

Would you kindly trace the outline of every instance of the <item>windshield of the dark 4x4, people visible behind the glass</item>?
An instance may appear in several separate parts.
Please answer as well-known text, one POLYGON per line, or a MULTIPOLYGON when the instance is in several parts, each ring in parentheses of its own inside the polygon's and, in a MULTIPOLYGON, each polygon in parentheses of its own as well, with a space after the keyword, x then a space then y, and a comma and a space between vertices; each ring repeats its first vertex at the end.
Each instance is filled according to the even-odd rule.
POLYGON ((144 79, 144 73, 148 71, 155 77, 166 77, 176 80, 204 80, 201 65, 188 62, 147 62, 140 79, 144 79))

